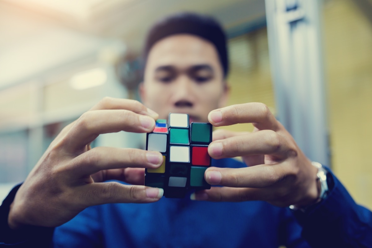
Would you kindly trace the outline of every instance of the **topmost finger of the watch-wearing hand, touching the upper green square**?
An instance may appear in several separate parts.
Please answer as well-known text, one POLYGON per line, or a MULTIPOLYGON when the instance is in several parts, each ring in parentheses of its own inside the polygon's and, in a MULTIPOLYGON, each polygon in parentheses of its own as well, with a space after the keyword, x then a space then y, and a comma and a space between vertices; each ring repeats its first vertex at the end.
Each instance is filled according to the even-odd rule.
POLYGON ((213 110, 209 113, 208 120, 213 126, 253 123, 260 130, 278 128, 277 120, 263 103, 236 104, 213 110))

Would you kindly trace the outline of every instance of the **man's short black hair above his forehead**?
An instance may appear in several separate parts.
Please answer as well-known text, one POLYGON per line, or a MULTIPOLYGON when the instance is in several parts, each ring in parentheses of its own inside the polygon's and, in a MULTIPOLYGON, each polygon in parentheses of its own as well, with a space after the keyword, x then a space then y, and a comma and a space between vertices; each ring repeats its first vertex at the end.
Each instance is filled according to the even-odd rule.
POLYGON ((229 65, 225 32, 221 24, 213 17, 196 13, 177 13, 156 22, 149 30, 145 41, 143 49, 144 65, 146 64, 148 53, 156 42, 167 36, 182 33, 198 36, 215 46, 224 78, 226 78, 229 65))

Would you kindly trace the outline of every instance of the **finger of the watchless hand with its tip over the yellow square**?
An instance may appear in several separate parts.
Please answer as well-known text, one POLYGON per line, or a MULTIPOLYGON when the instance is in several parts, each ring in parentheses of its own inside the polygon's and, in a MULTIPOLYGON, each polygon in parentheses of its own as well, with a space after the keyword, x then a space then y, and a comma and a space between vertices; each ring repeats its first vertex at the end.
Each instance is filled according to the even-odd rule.
POLYGON ((95 147, 73 159, 71 170, 78 177, 101 170, 125 167, 158 168, 163 163, 160 152, 134 148, 95 147))

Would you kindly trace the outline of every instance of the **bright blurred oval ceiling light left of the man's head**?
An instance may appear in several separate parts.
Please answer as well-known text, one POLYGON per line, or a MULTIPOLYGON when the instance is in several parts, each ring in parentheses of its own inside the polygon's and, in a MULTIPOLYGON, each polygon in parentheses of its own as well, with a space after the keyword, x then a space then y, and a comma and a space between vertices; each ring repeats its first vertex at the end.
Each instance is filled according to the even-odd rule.
POLYGON ((82 71, 71 77, 70 85, 75 90, 84 90, 106 83, 107 74, 103 68, 82 71))

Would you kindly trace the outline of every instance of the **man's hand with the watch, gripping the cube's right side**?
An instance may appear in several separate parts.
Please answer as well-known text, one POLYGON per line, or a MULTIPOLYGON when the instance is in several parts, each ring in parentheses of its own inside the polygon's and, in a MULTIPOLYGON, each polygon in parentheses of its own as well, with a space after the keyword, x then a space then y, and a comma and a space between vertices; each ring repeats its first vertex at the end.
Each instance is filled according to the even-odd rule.
POLYGON ((263 200, 280 207, 304 207, 318 200, 317 168, 265 104, 245 103, 213 110, 208 120, 213 126, 252 123, 254 130, 213 133, 209 155, 215 159, 241 156, 247 167, 208 168, 205 180, 225 187, 196 192, 196 200, 263 200))

